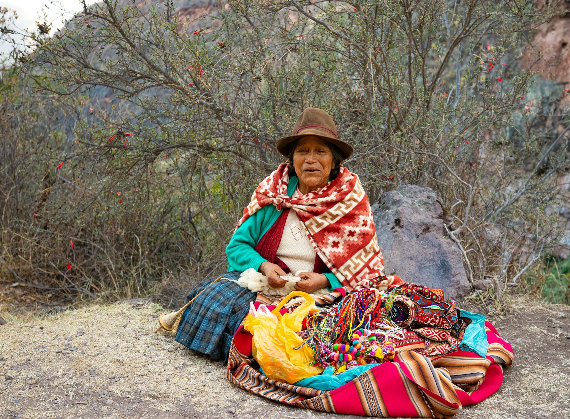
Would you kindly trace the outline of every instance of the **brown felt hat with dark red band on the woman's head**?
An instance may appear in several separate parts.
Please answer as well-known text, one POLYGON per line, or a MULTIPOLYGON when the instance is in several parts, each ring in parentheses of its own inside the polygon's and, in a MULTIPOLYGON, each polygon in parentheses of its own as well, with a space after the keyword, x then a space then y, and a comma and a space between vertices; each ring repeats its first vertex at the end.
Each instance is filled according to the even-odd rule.
POLYGON ((295 140, 304 135, 316 135, 340 148, 344 158, 352 154, 352 146, 340 140, 336 135, 335 121, 331 115, 319 108, 305 108, 298 117, 290 136, 282 137, 276 141, 277 151, 283 156, 291 153, 291 146, 295 140))

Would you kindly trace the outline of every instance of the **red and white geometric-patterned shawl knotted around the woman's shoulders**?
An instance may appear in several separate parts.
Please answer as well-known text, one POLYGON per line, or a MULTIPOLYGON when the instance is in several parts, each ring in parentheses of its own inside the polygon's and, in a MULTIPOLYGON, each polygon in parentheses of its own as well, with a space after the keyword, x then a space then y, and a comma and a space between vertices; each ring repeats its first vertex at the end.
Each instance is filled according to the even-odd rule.
POLYGON ((292 208, 317 255, 341 284, 367 287, 368 279, 382 275, 384 259, 372 209, 356 174, 340 166, 334 180, 295 198, 287 196, 288 182, 289 164, 282 163, 255 189, 237 227, 263 206, 292 208))

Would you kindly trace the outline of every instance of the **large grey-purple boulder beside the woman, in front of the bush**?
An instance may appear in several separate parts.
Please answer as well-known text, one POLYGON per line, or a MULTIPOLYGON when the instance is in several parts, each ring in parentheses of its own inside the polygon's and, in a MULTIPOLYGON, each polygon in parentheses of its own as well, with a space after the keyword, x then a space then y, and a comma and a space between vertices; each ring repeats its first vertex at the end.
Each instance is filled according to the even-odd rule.
POLYGON ((401 185, 372 204, 384 274, 441 288, 447 298, 461 300, 471 287, 461 251, 445 231, 436 198, 430 188, 401 185))

